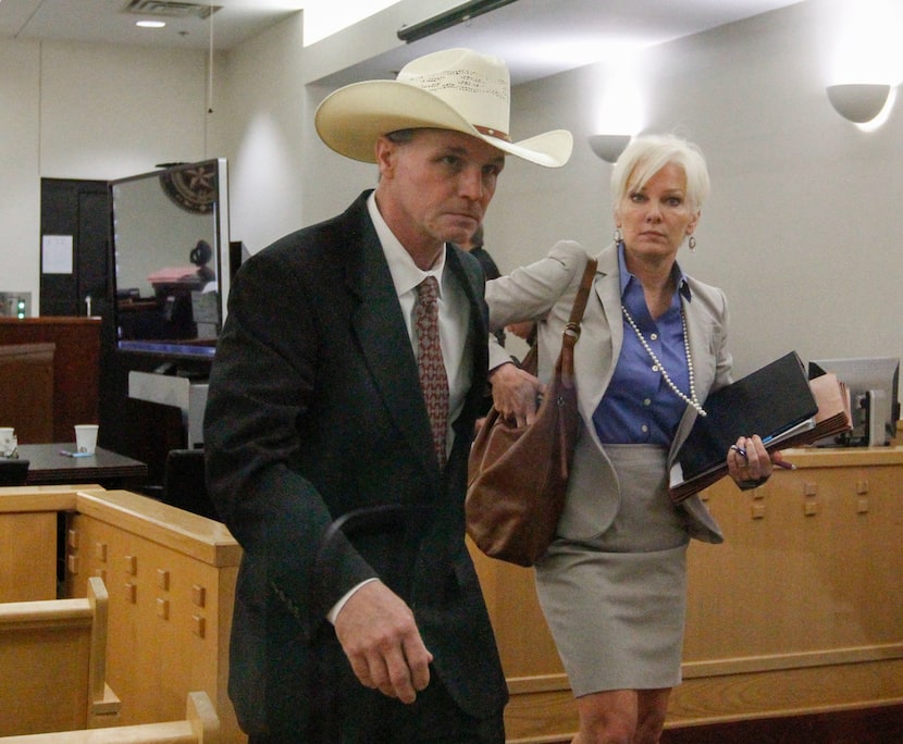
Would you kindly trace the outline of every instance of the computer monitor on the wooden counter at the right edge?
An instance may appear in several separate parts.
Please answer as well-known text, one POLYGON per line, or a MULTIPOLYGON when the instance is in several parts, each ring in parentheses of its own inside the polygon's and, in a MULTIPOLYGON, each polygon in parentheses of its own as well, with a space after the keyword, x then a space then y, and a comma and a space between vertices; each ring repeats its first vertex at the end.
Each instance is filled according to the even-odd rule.
POLYGON ((900 359, 861 357, 852 359, 814 359, 809 361, 809 380, 833 372, 850 390, 853 429, 818 446, 875 447, 896 436, 900 419, 898 387, 900 359))

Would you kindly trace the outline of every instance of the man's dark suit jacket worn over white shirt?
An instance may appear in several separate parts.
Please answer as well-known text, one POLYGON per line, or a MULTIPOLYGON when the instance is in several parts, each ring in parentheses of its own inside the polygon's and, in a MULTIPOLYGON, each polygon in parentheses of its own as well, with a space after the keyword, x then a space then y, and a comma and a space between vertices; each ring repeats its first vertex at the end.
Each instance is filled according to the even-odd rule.
POLYGON ((301 730, 322 687, 316 649, 334 641, 325 615, 371 576, 413 609, 433 673, 463 710, 482 718, 507 699, 463 540, 467 457, 487 365, 482 273, 448 250, 446 271, 471 305, 474 369, 441 472, 367 196, 245 262, 210 376, 209 488, 245 551, 230 691, 249 732, 301 730), (323 550, 334 519, 384 504, 425 510, 388 531, 339 535, 323 550))

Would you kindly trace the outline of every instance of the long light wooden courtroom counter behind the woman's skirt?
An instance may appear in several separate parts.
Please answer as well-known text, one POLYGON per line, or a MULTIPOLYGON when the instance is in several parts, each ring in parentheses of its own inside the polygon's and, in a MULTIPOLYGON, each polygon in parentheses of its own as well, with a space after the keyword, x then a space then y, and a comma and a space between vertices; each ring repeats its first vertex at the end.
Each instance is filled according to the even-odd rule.
MULTIPOLYGON (((690 546, 666 728, 903 703, 903 447, 784 454, 797 469, 759 488, 723 479, 702 494, 725 543, 690 546)), ((471 553, 511 693, 508 741, 569 741, 577 711, 532 570, 471 553)))

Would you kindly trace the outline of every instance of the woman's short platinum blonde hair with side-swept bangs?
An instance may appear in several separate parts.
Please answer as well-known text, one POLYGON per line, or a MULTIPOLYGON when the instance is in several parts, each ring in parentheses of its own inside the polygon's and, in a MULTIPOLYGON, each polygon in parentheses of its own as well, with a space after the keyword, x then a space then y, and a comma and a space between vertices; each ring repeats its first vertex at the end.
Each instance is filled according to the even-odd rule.
POLYGON ((686 198, 698 212, 712 188, 705 158, 696 145, 670 134, 639 135, 630 140, 611 171, 614 208, 630 189, 642 188, 669 163, 683 169, 686 198))

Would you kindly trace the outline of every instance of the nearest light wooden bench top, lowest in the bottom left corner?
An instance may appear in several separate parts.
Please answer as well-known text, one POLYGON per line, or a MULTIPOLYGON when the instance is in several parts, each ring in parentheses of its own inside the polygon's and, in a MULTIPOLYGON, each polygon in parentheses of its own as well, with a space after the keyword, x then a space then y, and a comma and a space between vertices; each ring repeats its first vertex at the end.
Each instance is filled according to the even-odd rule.
POLYGON ((185 720, 0 736, 2 744, 219 744, 220 719, 205 692, 188 693, 185 720))

